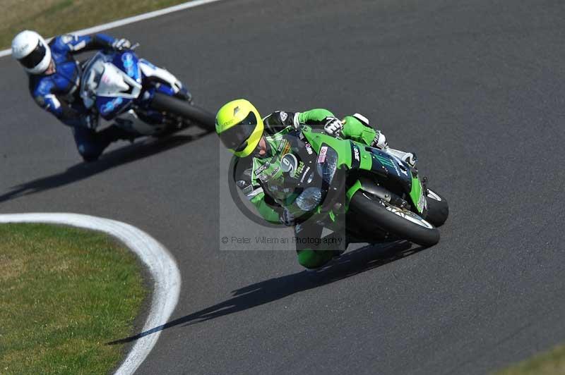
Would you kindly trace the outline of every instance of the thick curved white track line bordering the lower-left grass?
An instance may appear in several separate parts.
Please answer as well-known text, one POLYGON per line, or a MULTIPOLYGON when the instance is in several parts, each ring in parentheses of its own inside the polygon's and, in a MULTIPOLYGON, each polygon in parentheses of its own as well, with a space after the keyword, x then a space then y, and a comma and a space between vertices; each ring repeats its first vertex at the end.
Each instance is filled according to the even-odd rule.
MULTIPOLYGON (((177 262, 163 245, 143 230, 121 221, 102 219, 81 214, 1 214, 0 223, 52 223, 98 230, 117 238, 135 252, 148 267, 153 277, 153 297, 143 331, 167 323, 177 306, 181 287, 181 275, 177 262)), ((149 354, 160 330, 136 340, 135 345, 116 374, 133 374, 149 354)))

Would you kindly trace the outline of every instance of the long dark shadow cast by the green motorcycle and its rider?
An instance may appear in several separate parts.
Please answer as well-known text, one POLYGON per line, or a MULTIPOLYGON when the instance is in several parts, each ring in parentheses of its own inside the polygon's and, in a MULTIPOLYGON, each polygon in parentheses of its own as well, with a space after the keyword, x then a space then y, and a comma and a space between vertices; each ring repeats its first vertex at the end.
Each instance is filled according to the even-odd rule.
POLYGON ((115 345, 130 343, 151 333, 162 331, 167 328, 179 326, 191 326, 210 319, 219 318, 260 305, 265 305, 275 300, 288 297, 322 285, 334 283, 335 281, 355 276, 358 273, 369 271, 383 266, 398 259, 408 257, 424 250, 424 247, 413 247, 410 242, 398 241, 383 245, 368 245, 351 252, 345 252, 340 258, 328 264, 328 266, 316 271, 301 271, 266 281, 247 285, 232 291, 229 300, 217 305, 201 309, 198 312, 183 316, 182 318, 169 321, 167 324, 151 328, 148 331, 138 333, 128 338, 121 338, 107 343, 115 345))

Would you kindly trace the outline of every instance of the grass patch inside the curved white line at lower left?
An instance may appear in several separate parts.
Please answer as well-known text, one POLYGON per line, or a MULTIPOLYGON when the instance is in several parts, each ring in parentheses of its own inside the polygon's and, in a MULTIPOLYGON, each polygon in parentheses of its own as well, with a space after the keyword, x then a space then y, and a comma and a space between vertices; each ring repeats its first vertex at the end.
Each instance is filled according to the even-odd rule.
POLYGON ((147 290, 117 240, 65 226, 0 225, 0 374, 106 374, 147 290))

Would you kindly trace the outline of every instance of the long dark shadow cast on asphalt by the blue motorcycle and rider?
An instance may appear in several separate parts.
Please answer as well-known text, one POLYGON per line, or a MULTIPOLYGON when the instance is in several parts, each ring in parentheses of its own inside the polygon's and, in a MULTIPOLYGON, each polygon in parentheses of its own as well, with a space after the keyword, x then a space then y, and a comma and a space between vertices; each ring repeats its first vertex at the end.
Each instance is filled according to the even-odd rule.
POLYGON ((9 192, 0 195, 0 202, 10 199, 32 195, 38 192, 54 189, 77 181, 84 180, 90 176, 102 173, 117 166, 131 163, 132 161, 145 159, 146 157, 160 154, 169 149, 174 149, 185 145, 188 142, 197 140, 208 133, 198 135, 171 135, 166 138, 153 140, 148 138, 142 142, 136 142, 126 147, 120 147, 106 152, 100 159, 91 163, 81 162, 75 164, 61 173, 51 176, 37 178, 27 183, 13 186, 9 192))

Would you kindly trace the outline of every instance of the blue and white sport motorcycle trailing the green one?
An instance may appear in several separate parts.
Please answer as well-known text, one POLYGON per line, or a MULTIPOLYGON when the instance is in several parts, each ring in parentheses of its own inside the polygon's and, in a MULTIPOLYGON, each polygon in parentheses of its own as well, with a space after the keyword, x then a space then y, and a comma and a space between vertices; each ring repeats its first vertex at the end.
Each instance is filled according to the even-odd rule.
POLYGON ((133 49, 99 51, 85 62, 81 98, 87 109, 134 135, 161 137, 197 125, 213 131, 215 116, 192 103, 182 82, 139 59, 133 49))

